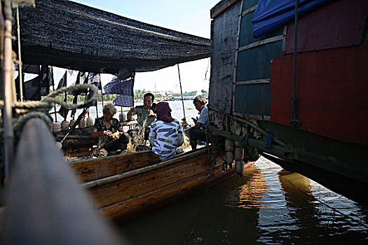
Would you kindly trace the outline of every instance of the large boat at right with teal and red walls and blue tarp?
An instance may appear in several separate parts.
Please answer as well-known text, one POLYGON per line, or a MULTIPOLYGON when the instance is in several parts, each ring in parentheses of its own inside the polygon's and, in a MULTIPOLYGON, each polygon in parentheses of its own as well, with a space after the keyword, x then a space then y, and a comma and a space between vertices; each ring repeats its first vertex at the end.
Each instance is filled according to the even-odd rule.
POLYGON ((212 131, 367 204, 367 13, 365 0, 220 1, 212 131))

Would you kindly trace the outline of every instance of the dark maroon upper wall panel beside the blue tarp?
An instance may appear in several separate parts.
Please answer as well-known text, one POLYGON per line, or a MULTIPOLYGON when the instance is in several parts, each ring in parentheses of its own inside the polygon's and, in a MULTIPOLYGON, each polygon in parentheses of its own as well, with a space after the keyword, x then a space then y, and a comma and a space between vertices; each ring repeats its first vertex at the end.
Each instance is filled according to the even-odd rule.
MULTIPOLYGON (((298 52, 360 44, 367 12, 367 0, 338 0, 301 17, 298 52)), ((285 52, 294 52, 294 22, 287 25, 285 52)))

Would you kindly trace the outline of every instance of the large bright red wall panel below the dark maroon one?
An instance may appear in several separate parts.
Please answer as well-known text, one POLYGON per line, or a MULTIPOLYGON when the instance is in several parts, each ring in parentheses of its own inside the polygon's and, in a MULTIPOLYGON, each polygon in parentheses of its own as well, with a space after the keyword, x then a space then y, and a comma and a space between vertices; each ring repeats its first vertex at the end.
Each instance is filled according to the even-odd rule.
MULTIPOLYGON (((299 129, 368 144, 368 41, 348 48, 298 54, 299 129)), ((294 55, 271 62, 271 121, 292 118, 294 55)))

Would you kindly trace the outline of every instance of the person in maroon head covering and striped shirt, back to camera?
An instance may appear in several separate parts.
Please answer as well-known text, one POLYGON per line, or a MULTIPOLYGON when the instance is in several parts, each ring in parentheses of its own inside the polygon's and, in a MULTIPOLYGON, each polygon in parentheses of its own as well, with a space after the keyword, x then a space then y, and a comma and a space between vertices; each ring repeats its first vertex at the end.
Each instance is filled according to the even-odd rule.
POLYGON ((176 155, 177 147, 184 142, 184 134, 179 121, 171 117, 168 102, 156 105, 156 115, 157 120, 151 124, 149 132, 149 143, 153 146, 152 152, 165 160, 176 155))

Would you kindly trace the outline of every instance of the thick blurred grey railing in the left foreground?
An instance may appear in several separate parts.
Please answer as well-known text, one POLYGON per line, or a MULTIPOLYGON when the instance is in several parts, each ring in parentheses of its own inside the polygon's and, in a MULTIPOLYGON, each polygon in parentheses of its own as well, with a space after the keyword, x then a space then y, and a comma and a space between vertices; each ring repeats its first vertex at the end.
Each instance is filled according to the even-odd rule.
POLYGON ((4 244, 122 244, 40 118, 25 123, 11 170, 4 244))

